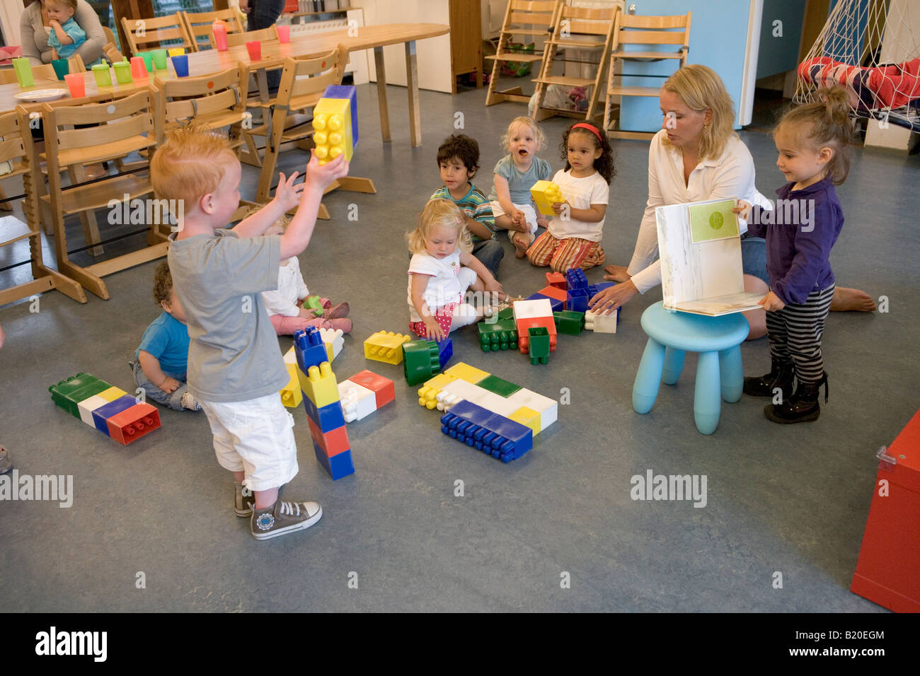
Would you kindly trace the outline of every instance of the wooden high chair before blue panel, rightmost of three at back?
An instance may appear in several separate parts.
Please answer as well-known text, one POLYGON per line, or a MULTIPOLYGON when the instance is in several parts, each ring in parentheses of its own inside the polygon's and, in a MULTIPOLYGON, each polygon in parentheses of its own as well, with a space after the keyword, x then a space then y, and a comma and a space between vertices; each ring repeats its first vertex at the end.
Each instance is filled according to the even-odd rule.
MULTIPOLYGON (((604 130, 615 139, 650 139, 654 132, 627 132, 611 130, 613 113, 619 105, 615 97, 655 97, 661 89, 655 86, 624 86, 627 73, 617 73, 617 64, 625 68, 630 62, 653 62, 671 59, 678 62, 677 68, 687 63, 690 51, 690 18, 692 12, 675 17, 635 17, 618 14, 614 26, 614 46, 610 54, 610 70, 607 79, 607 97, 604 105, 604 130), (639 50, 630 50, 636 45, 639 50), (650 46, 677 45, 674 51, 650 51, 650 46), (616 83, 617 79, 619 84, 616 83)), ((637 74, 637 77, 668 77, 669 75, 637 74)))

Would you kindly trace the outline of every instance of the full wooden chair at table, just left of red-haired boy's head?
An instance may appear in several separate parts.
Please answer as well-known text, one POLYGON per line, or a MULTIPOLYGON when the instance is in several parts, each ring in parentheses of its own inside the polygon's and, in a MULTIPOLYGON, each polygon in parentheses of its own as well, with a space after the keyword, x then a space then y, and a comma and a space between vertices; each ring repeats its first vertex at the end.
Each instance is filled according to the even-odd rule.
MULTIPOLYGON (((121 201, 123 195, 128 195, 129 200, 151 195, 153 188, 149 177, 146 171, 135 171, 63 187, 61 172, 74 166, 119 159, 155 145, 150 92, 142 91, 114 102, 83 106, 54 108, 45 103, 42 104, 42 113, 45 119, 45 152, 39 157, 48 163, 50 194, 42 196, 40 201, 51 205, 57 267, 63 274, 79 281, 86 290, 108 300, 109 290, 101 278, 165 256, 166 233, 159 224, 146 223, 145 248, 83 268, 70 260, 64 216, 94 212, 109 206, 113 199, 121 201), (74 129, 75 125, 97 126, 74 129)), ((145 211, 149 213, 149 210, 145 211)), ((87 242, 91 242, 94 234, 86 233, 86 227, 84 232, 87 242)))

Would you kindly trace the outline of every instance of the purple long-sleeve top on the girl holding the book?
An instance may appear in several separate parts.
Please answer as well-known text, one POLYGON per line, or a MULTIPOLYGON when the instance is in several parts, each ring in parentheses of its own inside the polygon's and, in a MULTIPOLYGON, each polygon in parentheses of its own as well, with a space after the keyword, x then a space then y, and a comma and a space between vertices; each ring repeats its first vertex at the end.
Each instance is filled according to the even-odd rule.
POLYGON ((809 293, 834 283, 831 247, 844 226, 844 212, 830 177, 800 190, 793 185, 776 190, 773 212, 753 207, 748 233, 766 238, 770 290, 783 303, 803 304, 809 293))

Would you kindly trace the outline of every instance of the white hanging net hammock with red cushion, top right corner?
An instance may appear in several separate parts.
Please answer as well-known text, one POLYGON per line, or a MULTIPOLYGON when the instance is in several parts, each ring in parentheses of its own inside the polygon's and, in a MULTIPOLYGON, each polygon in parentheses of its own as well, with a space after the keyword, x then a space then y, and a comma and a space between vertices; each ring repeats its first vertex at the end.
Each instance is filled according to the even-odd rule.
POLYGON ((854 117, 920 132, 920 36, 911 29, 918 25, 917 0, 839 0, 799 63, 793 100, 844 86, 854 117))

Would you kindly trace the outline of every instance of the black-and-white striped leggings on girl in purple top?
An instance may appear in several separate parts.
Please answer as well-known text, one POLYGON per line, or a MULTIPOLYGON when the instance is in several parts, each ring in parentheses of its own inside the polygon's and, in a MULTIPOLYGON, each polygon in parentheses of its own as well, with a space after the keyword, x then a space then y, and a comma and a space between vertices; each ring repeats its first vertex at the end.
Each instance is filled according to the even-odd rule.
POLYGON ((766 313, 770 356, 784 363, 792 361, 799 382, 817 383, 822 378, 821 337, 832 298, 834 284, 811 292, 804 304, 788 303, 782 310, 766 313))

